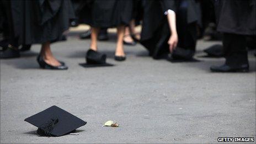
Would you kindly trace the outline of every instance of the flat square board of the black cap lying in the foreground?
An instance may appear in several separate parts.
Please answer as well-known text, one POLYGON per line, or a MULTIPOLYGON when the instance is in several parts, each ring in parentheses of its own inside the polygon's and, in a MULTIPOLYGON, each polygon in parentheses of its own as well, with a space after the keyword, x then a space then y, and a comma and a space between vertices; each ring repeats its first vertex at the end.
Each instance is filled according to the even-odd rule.
POLYGON ((76 130, 78 127, 86 125, 87 123, 86 121, 77 118, 77 116, 74 116, 63 109, 58 108, 58 106, 55 105, 44 111, 41 111, 38 114, 26 118, 25 121, 36 127, 40 127, 41 125, 46 124, 52 118, 58 119, 57 124, 51 131, 51 134, 54 136, 62 136, 68 134, 69 132, 76 130))

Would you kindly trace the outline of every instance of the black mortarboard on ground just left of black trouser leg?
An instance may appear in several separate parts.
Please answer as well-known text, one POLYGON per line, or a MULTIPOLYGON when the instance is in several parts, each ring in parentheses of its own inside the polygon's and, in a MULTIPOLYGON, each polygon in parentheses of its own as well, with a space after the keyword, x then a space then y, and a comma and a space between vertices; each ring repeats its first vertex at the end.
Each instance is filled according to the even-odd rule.
POLYGON ((203 57, 223 57, 224 50, 222 45, 212 45, 204 50, 208 55, 203 57))

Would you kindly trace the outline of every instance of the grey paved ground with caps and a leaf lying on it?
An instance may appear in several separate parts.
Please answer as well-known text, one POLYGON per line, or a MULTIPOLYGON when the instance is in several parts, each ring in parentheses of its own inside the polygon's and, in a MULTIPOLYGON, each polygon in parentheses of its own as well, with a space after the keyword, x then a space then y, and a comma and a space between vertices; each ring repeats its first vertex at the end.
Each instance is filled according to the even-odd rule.
MULTIPOLYGON (((67 71, 39 69, 33 45, 21 58, 1 60, 1 143, 217 143, 217 137, 255 138, 255 57, 249 73, 211 73, 223 58, 170 63, 153 60, 141 45, 113 60, 115 37, 99 42, 114 67, 83 68, 89 40, 71 34, 52 45, 67 71), (28 116, 52 105, 87 121, 78 136, 39 137, 28 116), (102 127, 115 120, 120 127, 102 127)), ((217 42, 220 43, 220 42, 217 42)))

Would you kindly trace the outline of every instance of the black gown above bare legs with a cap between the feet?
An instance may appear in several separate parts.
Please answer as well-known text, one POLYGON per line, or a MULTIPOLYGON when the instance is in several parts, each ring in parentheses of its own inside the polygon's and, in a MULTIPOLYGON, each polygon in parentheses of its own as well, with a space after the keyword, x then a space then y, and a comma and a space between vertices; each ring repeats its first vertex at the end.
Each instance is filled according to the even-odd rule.
POLYGON ((131 0, 83 1, 79 16, 82 23, 93 27, 111 28, 128 25, 132 19, 131 0))

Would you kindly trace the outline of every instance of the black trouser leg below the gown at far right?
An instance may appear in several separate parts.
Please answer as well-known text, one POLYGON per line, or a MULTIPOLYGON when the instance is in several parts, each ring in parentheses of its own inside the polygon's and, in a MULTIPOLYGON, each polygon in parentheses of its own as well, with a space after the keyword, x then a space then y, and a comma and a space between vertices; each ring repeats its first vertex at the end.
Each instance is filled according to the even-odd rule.
POLYGON ((236 67, 248 64, 245 35, 224 33, 222 42, 226 65, 236 67))

